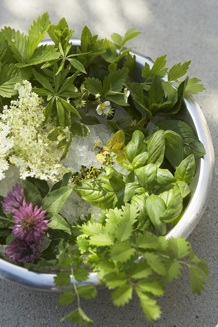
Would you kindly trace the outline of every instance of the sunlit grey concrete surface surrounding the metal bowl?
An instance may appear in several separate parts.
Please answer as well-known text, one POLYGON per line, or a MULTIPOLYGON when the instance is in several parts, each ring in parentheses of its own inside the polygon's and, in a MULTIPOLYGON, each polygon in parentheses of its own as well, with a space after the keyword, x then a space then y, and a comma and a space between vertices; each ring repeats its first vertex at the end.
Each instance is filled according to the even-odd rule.
MULTIPOLYGON (((57 23, 63 16, 75 37, 84 25, 93 34, 109 37, 111 32, 124 34, 138 26, 143 34, 129 42, 137 51, 152 58, 168 55, 168 65, 192 60, 190 77, 198 77, 207 91, 196 95, 207 119, 218 153, 218 3, 215 0, 1 0, 0 27, 12 26, 24 30, 33 18, 48 11, 51 21, 57 23)), ((217 164, 217 163, 216 163, 217 164)), ((189 287, 189 273, 166 287, 166 295, 159 300, 162 316, 156 322, 144 319, 136 297, 124 308, 115 308, 110 292, 99 290, 94 301, 82 301, 84 311, 96 327, 195 327, 218 326, 218 272, 217 272, 217 172, 208 207, 188 240, 198 257, 207 260, 213 288, 207 287, 201 297, 193 296, 189 287)), ((0 326, 71 326, 60 323, 60 317, 69 312, 57 304, 58 294, 24 288, 0 280, 0 326)))

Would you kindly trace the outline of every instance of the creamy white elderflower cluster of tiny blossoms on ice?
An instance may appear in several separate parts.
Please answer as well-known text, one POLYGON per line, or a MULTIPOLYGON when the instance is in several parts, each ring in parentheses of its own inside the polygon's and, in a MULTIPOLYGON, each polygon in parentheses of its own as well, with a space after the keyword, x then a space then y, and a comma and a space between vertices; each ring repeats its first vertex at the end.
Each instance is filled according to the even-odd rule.
POLYGON ((58 161, 59 141, 47 137, 55 126, 50 119, 44 122, 43 99, 32 92, 30 82, 16 83, 14 89, 18 99, 0 114, 0 181, 9 162, 19 167, 21 179, 30 176, 54 183, 69 170, 58 161))

